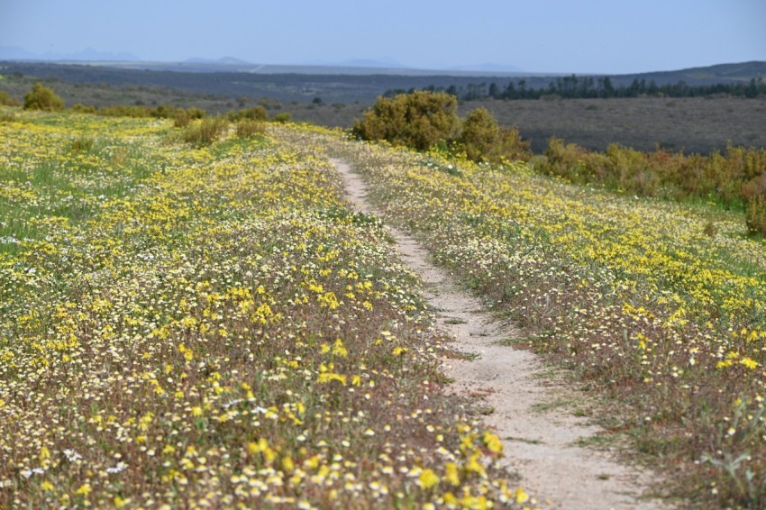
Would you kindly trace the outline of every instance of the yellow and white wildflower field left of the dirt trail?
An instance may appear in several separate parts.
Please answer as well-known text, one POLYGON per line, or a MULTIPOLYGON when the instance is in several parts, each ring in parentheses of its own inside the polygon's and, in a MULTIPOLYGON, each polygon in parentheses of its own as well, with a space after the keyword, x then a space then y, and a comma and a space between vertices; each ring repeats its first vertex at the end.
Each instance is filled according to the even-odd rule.
POLYGON ((0 507, 532 503, 319 135, 4 118, 0 507))

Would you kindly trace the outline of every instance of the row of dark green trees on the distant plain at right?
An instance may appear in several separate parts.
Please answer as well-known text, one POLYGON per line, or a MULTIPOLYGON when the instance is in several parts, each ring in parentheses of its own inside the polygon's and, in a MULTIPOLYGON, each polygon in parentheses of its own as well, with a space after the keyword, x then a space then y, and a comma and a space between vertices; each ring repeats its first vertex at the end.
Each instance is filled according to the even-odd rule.
MULTIPOLYGON (((615 86, 610 77, 557 77, 548 87, 528 87, 525 79, 511 80, 505 86, 496 82, 470 83, 465 87, 451 85, 436 87, 430 85, 423 90, 446 92, 461 101, 479 99, 540 99, 542 97, 560 97, 563 99, 606 99, 610 97, 709 97, 735 96, 753 98, 766 96, 766 82, 762 77, 752 78, 749 83, 716 83, 712 85, 688 85, 684 81, 675 84, 657 85, 651 79, 634 78, 628 85, 615 86)), ((413 92, 400 89, 386 91, 383 96, 394 97, 397 94, 413 92)))

